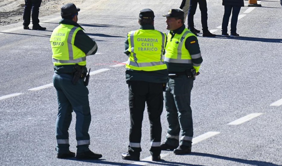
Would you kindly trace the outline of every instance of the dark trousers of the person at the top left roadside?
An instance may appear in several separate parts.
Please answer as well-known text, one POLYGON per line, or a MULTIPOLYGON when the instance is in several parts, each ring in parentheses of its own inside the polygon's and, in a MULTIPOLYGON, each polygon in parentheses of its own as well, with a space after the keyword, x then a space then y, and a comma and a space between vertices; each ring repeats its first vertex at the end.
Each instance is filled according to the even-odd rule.
POLYGON ((39 7, 42 0, 25 0, 25 9, 23 13, 23 26, 29 26, 30 24, 30 14, 32 17, 32 24, 35 26, 39 25, 39 7))

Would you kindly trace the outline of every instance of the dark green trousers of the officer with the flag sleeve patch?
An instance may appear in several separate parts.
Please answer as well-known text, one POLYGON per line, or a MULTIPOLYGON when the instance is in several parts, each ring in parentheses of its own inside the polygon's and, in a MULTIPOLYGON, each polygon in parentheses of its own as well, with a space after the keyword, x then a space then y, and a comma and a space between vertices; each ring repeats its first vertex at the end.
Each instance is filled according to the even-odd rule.
POLYGON ((166 144, 171 146, 192 146, 193 120, 190 107, 193 79, 186 75, 170 78, 164 95, 166 119, 169 127, 166 144), (181 132, 180 132, 181 131, 181 132), (182 133, 180 141, 179 134, 182 133))

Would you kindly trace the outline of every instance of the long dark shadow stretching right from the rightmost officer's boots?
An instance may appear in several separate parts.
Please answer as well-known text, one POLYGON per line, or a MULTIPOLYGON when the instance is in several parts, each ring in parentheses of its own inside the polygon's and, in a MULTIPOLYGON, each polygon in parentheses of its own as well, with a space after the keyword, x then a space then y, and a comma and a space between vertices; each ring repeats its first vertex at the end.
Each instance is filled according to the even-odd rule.
POLYGON ((281 165, 277 165, 277 164, 273 164, 273 163, 269 163, 269 162, 264 162, 264 161, 244 160, 244 159, 240 159, 240 158, 231 158, 231 157, 219 156, 219 155, 215 155, 215 154, 192 152, 190 155, 210 157, 210 158, 218 158, 218 159, 222 159, 222 160, 235 161, 235 162, 238 162, 238 163, 251 164, 251 165, 257 165, 257 166, 281 166, 281 165))

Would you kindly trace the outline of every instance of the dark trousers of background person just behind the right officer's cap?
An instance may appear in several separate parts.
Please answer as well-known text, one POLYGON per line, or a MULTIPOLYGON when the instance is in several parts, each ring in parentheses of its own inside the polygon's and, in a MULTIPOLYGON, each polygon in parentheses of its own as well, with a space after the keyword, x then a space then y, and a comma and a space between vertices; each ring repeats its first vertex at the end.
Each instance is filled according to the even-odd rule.
MULTIPOLYGON (((189 1, 189 0, 188 0, 189 1)), ((201 22, 203 32, 208 31, 208 9, 206 7, 206 0, 190 0, 190 7, 188 10, 188 26, 190 30, 194 30, 194 15, 196 13, 197 4, 201 11, 201 22)))

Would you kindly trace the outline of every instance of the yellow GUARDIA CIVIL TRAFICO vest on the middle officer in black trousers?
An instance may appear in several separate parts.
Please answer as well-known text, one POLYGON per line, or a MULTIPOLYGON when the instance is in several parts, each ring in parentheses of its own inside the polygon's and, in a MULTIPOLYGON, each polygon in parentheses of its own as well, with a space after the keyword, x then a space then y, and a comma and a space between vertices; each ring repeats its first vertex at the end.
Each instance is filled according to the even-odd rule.
POLYGON ((142 71, 166 69, 163 62, 163 51, 166 34, 157 30, 139 29, 127 35, 130 56, 126 68, 142 71))

